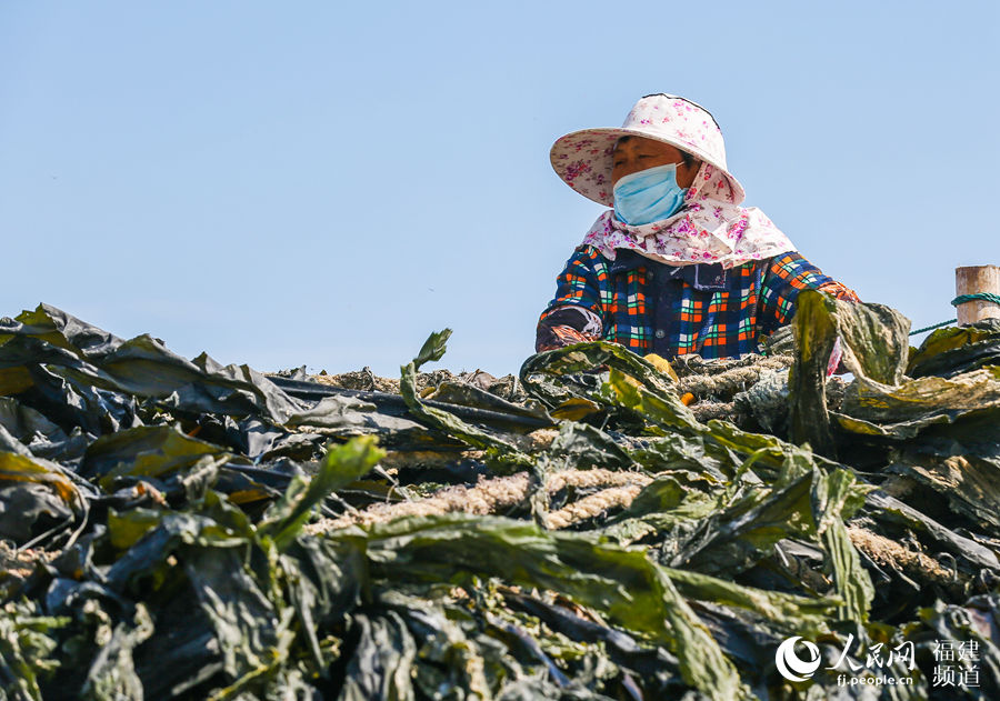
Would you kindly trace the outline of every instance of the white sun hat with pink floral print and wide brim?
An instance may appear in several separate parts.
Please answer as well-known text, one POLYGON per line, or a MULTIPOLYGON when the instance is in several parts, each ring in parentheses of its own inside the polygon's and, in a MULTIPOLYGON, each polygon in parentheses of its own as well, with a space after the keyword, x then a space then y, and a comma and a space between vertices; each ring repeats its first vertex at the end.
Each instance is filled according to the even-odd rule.
POLYGON ((621 128, 583 129, 558 139, 549 152, 552 168, 583 197, 613 204, 611 167, 614 143, 622 137, 642 137, 677 147, 722 171, 729 192, 719 199, 739 204, 746 197, 743 186, 726 166, 722 130, 700 104, 672 94, 648 94, 639 100, 621 128))

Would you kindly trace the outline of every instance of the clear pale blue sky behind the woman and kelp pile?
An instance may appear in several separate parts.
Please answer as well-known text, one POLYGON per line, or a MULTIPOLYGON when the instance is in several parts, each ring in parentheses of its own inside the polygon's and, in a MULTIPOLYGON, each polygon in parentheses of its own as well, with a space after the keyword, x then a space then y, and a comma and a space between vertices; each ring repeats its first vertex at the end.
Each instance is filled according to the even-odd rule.
POLYGON ((260 370, 514 372, 601 208, 566 132, 671 92, 914 328, 1000 264, 1000 2, 0 0, 0 316, 260 370))

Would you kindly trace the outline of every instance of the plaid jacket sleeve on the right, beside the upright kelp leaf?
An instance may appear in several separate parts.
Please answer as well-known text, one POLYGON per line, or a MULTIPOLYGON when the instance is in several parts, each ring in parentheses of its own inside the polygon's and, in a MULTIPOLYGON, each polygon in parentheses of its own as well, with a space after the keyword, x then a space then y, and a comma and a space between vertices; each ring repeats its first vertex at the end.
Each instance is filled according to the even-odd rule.
POLYGON ((802 290, 819 290, 837 299, 860 302, 849 287, 824 276, 796 251, 772 258, 764 269, 760 289, 760 330, 769 334, 796 313, 796 298, 802 290))

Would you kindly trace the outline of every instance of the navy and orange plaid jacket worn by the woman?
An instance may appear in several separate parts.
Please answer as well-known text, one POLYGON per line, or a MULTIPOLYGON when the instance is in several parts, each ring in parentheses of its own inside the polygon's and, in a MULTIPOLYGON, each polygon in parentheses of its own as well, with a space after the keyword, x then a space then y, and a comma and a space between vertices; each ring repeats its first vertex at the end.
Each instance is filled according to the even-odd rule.
POLYGON ((624 250, 609 261, 581 246, 557 284, 539 319, 539 351, 602 338, 640 355, 739 357, 758 352, 763 337, 791 320, 800 290, 860 301, 794 251, 723 270, 624 250))

